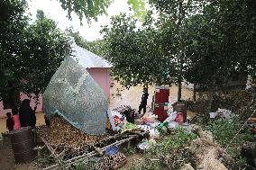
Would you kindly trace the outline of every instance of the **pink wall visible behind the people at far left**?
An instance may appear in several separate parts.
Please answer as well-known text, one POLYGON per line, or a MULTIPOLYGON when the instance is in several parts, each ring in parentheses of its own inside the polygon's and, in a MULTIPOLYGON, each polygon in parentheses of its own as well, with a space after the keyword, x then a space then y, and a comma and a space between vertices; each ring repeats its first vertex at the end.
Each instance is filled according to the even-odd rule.
MULTIPOLYGON (((34 94, 32 94, 32 96, 34 96, 34 94)), ((26 94, 23 94, 22 92, 20 93, 20 97, 21 97, 21 101, 23 101, 24 99, 30 99, 26 94)), ((32 109, 35 106, 35 101, 33 99, 31 99, 31 106, 32 109)), ((11 109, 6 109, 4 110, 4 105, 3 102, 0 102, 0 118, 4 118, 6 117, 6 112, 12 112, 11 109)), ((39 96, 39 104, 37 105, 37 110, 36 112, 42 112, 42 96, 39 96)))

